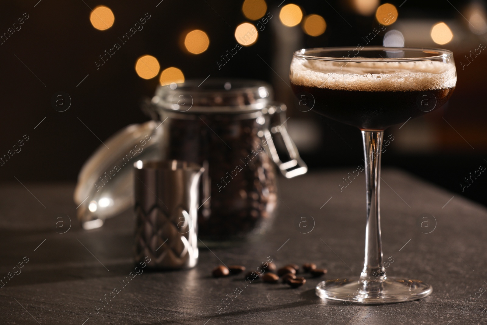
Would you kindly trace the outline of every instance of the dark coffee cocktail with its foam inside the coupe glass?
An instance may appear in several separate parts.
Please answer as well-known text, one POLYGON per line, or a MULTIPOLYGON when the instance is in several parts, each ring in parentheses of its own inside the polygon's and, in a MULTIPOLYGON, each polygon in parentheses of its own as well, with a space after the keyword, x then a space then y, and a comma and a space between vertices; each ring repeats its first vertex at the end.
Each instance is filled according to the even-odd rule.
POLYGON ((384 130, 441 107, 455 66, 439 61, 334 62, 294 58, 291 87, 300 105, 362 130, 384 130))

